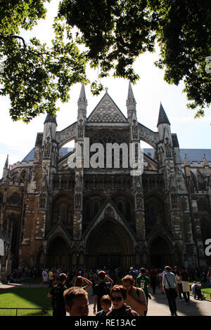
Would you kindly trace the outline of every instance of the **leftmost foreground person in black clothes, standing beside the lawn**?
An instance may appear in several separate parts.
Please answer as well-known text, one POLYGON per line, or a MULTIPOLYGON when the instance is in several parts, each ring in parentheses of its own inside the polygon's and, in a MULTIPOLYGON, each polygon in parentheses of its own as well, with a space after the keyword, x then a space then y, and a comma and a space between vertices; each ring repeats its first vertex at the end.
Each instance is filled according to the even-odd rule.
POLYGON ((52 297, 53 316, 66 316, 65 302, 63 292, 67 289, 65 282, 67 275, 61 273, 58 277, 58 283, 53 286, 47 297, 52 297))

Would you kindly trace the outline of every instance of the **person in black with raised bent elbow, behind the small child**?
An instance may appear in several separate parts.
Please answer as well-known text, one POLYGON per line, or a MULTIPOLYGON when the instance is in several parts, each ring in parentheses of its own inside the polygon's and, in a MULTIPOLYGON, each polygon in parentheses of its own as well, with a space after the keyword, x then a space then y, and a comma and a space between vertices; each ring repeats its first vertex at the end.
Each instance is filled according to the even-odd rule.
POLYGON ((98 279, 99 283, 94 286, 94 314, 96 314, 96 305, 97 305, 97 311, 99 312, 101 308, 101 298, 105 294, 110 295, 110 288, 108 284, 106 283, 106 279, 110 282, 110 285, 113 284, 113 279, 110 279, 108 275, 106 275, 106 272, 101 270, 101 272, 98 272, 98 279))

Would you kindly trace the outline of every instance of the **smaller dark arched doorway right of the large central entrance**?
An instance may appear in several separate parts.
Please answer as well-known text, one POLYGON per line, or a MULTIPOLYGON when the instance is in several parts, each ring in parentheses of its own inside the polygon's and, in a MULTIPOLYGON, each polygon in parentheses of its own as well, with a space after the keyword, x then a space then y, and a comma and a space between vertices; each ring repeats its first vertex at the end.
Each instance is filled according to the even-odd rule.
POLYGON ((163 268, 173 263, 172 248, 163 237, 158 236, 151 242, 150 255, 151 266, 163 268))

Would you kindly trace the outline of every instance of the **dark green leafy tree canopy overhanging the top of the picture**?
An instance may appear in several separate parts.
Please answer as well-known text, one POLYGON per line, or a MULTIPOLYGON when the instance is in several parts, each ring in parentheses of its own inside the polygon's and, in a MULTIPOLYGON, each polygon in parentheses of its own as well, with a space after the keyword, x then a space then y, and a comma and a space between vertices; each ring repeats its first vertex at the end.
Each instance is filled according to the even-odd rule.
MULTIPOLYGON (((0 2, 0 94, 10 96, 14 120, 56 114, 56 101, 68 100, 72 84, 89 82, 87 65, 98 68, 99 78, 113 74, 136 83, 134 61, 156 44, 155 65, 165 81, 184 81, 188 107, 204 115, 211 102, 210 0, 61 0, 52 45, 36 37, 26 44, 20 28, 32 29, 44 18, 49 1, 0 2)), ((103 85, 92 81, 91 89, 99 93, 103 85)))

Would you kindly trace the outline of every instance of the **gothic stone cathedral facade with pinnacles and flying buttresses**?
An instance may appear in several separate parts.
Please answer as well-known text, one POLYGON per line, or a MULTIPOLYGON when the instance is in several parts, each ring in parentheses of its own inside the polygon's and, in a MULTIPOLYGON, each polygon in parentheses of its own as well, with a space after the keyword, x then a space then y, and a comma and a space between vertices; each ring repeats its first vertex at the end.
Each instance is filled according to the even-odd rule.
MULTIPOLYGON (((211 239, 211 149, 180 149, 160 103, 158 131, 137 121, 129 84, 127 117, 106 93, 87 116, 82 85, 77 121, 57 131, 46 116, 34 148, 0 180, 1 275, 27 268, 185 265, 203 267, 211 239), (143 173, 70 166, 75 148, 101 143, 148 143, 143 173)), ((68 123, 69 124, 69 123, 68 123)), ((120 150, 120 160, 121 160, 120 150)), ((106 157, 104 159, 106 161, 106 157)))

